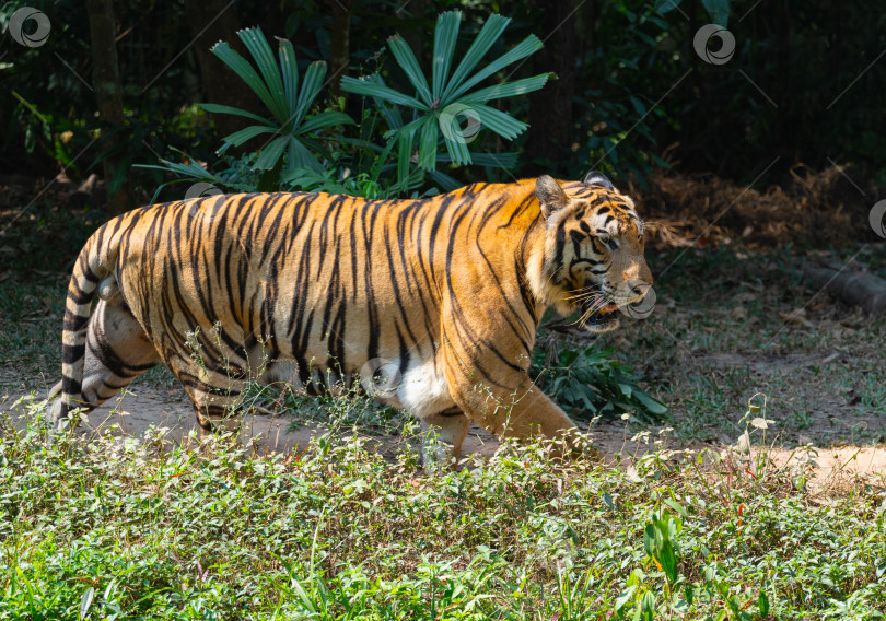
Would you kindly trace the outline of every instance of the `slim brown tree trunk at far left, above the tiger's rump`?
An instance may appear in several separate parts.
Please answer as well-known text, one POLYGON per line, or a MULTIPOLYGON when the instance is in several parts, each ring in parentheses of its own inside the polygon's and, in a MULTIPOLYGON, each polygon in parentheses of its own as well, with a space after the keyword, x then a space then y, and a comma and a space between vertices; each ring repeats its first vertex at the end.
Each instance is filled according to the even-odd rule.
MULTIPOLYGON (((114 20, 114 5, 110 0, 86 0, 90 20, 90 42, 92 46, 92 83, 98 103, 98 115, 107 126, 121 126, 125 122, 123 110, 123 85, 117 67, 117 24, 114 20)), ((106 149, 116 150, 115 144, 106 149)), ((117 151, 119 153, 119 151, 117 151)), ((107 207, 113 214, 130 208, 131 189, 128 179, 112 195, 112 180, 119 166, 126 165, 118 155, 104 160, 107 207)))

